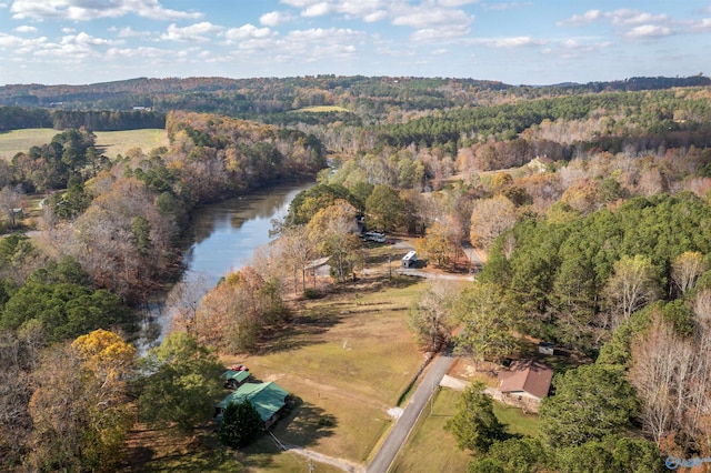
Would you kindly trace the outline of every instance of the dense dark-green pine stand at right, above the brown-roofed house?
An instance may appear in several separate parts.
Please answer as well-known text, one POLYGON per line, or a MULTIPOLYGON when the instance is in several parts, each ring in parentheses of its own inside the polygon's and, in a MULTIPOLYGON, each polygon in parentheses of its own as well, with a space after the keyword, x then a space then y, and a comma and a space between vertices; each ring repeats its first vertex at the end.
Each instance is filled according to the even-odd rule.
POLYGON ((591 350, 635 310, 680 296, 678 259, 711 252, 711 209, 690 193, 635 198, 614 211, 553 223, 528 218, 500 236, 481 274, 525 311, 521 329, 591 350), (644 278, 639 298, 620 299, 644 278))

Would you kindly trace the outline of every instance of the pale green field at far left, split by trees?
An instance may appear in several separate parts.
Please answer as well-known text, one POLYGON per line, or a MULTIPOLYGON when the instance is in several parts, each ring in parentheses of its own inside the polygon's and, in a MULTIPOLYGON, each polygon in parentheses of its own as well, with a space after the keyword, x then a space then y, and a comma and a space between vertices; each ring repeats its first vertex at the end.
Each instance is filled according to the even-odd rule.
MULTIPOLYGON (((0 159, 11 160, 19 152, 27 152, 32 147, 39 147, 52 141, 59 130, 36 128, 13 130, 0 133, 0 159)), ((166 130, 126 130, 97 131, 97 148, 107 157, 114 159, 118 154, 126 154, 132 148, 140 148, 144 152, 168 145, 166 130)))

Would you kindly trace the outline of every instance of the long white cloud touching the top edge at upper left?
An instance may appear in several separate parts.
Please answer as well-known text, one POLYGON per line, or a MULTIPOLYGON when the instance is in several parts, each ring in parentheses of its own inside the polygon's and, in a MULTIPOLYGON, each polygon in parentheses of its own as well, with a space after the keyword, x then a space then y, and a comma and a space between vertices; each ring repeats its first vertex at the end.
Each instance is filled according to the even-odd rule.
POLYGON ((89 21, 97 18, 120 18, 127 14, 154 20, 200 18, 201 13, 171 10, 158 0, 14 0, 10 12, 16 19, 69 19, 89 21))

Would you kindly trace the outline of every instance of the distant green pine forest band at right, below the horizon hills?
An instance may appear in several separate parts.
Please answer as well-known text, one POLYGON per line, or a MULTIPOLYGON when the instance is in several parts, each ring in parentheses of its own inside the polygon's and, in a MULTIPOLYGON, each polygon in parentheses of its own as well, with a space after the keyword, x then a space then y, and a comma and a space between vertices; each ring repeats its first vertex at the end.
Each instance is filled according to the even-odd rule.
MULTIPOLYGON (((633 133, 639 135, 687 132, 695 145, 708 145, 702 130, 711 120, 707 95, 691 91, 603 93, 529 100, 517 104, 475 107, 438 115, 423 117, 405 123, 384 127, 378 134, 382 145, 405 148, 443 148, 454 153, 472 142, 507 141, 544 122, 574 122, 604 119, 589 137, 588 147, 605 147, 633 133), (614 138, 609 138, 614 137, 614 138), (693 138, 691 138, 693 137, 693 138), (593 140, 593 138, 595 140, 593 140)), ((691 144, 691 143, 689 143, 691 144)))

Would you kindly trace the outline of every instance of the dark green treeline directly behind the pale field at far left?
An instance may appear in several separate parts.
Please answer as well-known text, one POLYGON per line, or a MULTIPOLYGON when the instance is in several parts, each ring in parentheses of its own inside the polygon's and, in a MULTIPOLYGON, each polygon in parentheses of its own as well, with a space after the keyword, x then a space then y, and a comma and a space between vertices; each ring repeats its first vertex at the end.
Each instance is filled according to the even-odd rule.
POLYGON ((26 107, 0 107, 0 131, 27 128, 88 131, 138 130, 164 128, 166 114, 150 110, 131 111, 64 111, 26 107))

